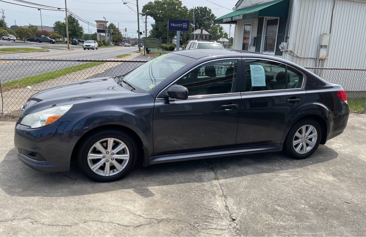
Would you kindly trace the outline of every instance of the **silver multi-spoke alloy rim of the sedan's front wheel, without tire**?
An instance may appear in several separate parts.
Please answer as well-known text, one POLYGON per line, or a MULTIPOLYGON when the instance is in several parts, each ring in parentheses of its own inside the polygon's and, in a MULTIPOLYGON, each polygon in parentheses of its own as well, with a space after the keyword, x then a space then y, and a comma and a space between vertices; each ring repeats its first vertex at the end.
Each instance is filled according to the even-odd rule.
POLYGON ((102 176, 118 174, 126 167, 129 159, 130 152, 126 144, 116 138, 97 141, 88 153, 90 169, 102 176))

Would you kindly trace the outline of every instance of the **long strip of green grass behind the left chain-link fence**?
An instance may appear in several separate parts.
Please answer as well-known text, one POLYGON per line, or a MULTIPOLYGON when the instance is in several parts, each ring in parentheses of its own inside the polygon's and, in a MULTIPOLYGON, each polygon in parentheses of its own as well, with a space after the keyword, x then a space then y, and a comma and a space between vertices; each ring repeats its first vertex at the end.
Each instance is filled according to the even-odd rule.
POLYGON ((33 85, 36 83, 55 79, 57 77, 60 77, 60 76, 63 76, 63 75, 69 74, 69 73, 73 73, 75 71, 80 71, 85 68, 94 67, 94 66, 97 66, 97 65, 100 65, 103 63, 104 62, 90 62, 90 63, 83 63, 83 64, 79 64, 79 65, 75 65, 75 66, 65 67, 65 68, 62 68, 62 69, 59 69, 56 71, 49 71, 49 72, 41 73, 38 75, 23 77, 20 79, 16 79, 14 81, 8 81, 8 82, 1 84, 1 86, 3 88, 11 87, 11 89, 22 88, 25 86, 30 86, 30 85, 33 85))

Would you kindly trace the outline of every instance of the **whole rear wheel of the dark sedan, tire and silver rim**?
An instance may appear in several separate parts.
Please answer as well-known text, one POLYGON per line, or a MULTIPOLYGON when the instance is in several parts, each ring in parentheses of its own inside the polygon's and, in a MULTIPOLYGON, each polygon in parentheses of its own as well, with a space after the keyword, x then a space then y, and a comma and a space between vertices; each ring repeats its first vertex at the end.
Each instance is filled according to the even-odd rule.
POLYGON ((319 147, 321 127, 313 119, 297 122, 287 134, 284 151, 294 159, 304 159, 312 155, 319 147))

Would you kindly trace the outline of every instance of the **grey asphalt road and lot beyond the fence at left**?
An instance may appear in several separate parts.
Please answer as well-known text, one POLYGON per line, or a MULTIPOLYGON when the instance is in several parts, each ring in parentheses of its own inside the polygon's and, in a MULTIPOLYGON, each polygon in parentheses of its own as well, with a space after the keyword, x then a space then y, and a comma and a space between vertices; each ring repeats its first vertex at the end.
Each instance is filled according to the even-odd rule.
MULTIPOLYGON (((29 42, 1 41, 5 44, 1 47, 33 47, 29 42), (9 44, 9 45, 8 45, 9 44), (12 44, 16 44, 15 46, 12 44), (26 44, 26 45, 25 45, 26 44)), ((38 47, 36 43, 36 46, 38 47)), ((49 46, 50 44, 46 44, 49 46)), ((54 45, 52 45, 54 46, 54 45)), ((57 46, 57 45, 56 45, 57 46)), ((111 47, 98 50, 83 50, 82 47, 74 47, 75 50, 50 49, 49 52, 32 52, 0 55, 1 82, 12 81, 29 75, 37 75, 47 71, 54 71, 68 66, 74 66, 77 62, 42 62, 42 61, 1 61, 1 58, 39 58, 39 59, 114 59, 115 56, 132 53, 137 47, 111 47)))

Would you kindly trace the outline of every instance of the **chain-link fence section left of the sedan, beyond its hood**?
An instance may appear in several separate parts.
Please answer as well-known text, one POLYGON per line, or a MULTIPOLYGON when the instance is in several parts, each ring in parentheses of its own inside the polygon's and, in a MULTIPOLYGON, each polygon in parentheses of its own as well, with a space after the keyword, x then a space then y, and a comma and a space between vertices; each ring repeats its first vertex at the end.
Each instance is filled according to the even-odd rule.
POLYGON ((0 116, 17 119, 19 108, 38 91, 82 79, 123 75, 146 61, 0 59, 0 116))

